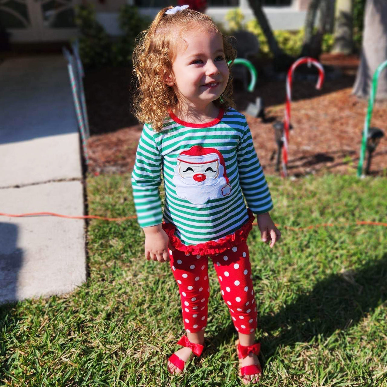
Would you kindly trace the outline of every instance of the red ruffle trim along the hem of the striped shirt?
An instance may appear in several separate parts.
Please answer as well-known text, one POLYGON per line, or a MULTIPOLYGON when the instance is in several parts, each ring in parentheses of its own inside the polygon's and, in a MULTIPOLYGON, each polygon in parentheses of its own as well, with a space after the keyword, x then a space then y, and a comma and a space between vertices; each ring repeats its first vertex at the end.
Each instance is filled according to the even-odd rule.
POLYGON ((183 245, 180 239, 175 235, 176 226, 172 223, 163 222, 162 226, 170 238, 171 245, 175 247, 176 250, 194 255, 219 254, 247 239, 250 230, 253 228, 252 223, 255 219, 252 211, 250 211, 250 209, 247 209, 247 211, 248 221, 243 224, 240 229, 236 230, 235 233, 226 235, 218 241, 208 241, 205 243, 199 243, 198 245, 183 245))

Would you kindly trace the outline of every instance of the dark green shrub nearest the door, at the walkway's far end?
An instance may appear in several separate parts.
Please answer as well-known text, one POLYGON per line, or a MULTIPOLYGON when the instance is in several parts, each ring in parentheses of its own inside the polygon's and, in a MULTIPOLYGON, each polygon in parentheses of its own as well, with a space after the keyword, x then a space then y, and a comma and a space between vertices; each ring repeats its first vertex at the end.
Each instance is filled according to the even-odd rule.
POLYGON ((96 21, 91 4, 75 7, 75 24, 79 28, 79 53, 85 68, 102 67, 111 62, 111 40, 96 21))

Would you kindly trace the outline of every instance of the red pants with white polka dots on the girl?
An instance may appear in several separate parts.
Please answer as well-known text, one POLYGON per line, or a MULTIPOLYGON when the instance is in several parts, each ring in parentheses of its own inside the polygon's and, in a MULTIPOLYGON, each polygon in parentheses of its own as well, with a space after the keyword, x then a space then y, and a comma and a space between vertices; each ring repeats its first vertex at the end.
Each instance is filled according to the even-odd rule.
POLYGON ((254 300, 251 265, 246 242, 223 253, 186 255, 170 251, 170 265, 179 286, 184 327, 187 332, 199 332, 207 325, 208 262, 211 258, 223 296, 235 329, 251 334, 257 328, 257 308, 254 300))

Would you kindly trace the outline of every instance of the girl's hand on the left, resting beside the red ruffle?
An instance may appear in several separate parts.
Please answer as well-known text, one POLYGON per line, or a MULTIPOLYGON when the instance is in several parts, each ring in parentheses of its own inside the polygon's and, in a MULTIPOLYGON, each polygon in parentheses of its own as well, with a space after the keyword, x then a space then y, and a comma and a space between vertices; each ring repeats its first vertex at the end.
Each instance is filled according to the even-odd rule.
POLYGON ((151 227, 144 227, 145 233, 145 258, 153 259, 154 261, 159 262, 169 262, 171 259, 169 257, 168 250, 175 250, 171 246, 168 235, 161 227, 161 224, 151 227))

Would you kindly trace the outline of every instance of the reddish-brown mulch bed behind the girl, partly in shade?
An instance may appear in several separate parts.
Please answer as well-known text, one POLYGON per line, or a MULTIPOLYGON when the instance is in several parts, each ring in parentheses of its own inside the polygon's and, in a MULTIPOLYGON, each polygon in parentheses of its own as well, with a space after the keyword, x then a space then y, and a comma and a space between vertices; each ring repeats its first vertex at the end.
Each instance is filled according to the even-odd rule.
MULTIPOLYGON (((324 55, 321 62, 340 68, 342 75, 327 79, 316 90, 311 81, 293 81, 288 173, 303 176, 355 173, 368 102, 351 95, 358 58, 324 55)), ((258 72, 260 74, 260 72, 258 72)), ((134 165, 142 125, 130 114, 130 69, 110 68, 89 71, 85 93, 92 136, 88 140, 90 173, 124 173, 134 165)), ((132 88, 132 86, 131 86, 132 88)), ((255 148, 267 175, 275 171, 277 151, 272 124, 283 120, 285 82, 259 79, 253 93, 235 84, 236 108, 244 113, 249 102, 264 99, 267 122, 247 115, 255 148)), ((373 109, 371 127, 384 130, 371 164, 372 175, 387 172, 387 101, 373 109)))

